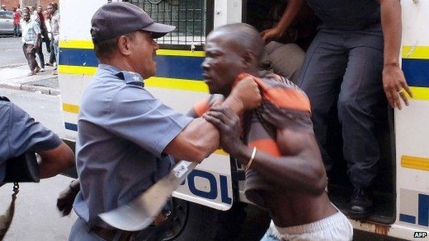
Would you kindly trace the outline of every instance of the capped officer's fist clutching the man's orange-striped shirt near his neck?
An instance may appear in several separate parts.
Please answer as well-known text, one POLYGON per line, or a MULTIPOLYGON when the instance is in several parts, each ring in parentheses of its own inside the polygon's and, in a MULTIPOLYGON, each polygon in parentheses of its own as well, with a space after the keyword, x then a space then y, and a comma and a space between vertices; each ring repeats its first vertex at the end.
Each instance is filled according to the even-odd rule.
POLYGON ((242 104, 244 110, 256 108, 261 104, 262 97, 259 91, 258 84, 254 82, 251 76, 240 80, 232 89, 231 94, 237 98, 242 104))

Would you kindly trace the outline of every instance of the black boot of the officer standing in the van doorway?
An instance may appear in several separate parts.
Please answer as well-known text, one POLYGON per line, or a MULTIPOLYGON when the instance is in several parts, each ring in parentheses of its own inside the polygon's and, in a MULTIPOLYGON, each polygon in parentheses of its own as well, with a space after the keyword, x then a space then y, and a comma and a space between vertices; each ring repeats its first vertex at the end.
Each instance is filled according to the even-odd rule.
POLYGON ((373 198, 371 192, 365 188, 354 188, 349 203, 351 218, 366 218, 373 211, 373 198))

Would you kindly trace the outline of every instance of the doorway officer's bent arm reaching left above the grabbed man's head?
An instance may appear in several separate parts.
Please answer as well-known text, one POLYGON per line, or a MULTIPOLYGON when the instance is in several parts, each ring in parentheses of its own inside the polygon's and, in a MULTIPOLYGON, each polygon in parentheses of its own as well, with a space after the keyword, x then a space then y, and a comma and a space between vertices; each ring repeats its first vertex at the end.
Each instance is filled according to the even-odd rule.
POLYGON ((276 25, 268 30, 261 32, 261 36, 265 42, 270 42, 274 38, 282 36, 287 28, 294 22, 299 10, 303 7, 304 0, 289 0, 286 5, 285 12, 276 25))

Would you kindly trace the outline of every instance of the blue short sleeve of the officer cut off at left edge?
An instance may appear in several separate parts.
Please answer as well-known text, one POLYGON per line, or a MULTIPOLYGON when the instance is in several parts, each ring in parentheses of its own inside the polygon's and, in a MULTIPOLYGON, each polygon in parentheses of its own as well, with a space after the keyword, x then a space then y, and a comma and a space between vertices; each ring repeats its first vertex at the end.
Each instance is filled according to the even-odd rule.
POLYGON ((39 122, 35 122, 21 108, 10 103, 8 142, 11 157, 17 157, 29 150, 41 152, 54 149, 60 146, 61 139, 39 122))

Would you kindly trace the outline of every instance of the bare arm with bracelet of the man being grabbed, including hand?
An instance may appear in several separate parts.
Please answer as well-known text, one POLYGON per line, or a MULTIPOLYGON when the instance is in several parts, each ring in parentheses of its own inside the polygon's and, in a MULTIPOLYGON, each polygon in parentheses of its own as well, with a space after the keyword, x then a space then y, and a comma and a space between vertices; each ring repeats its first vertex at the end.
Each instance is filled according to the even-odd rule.
MULTIPOLYGON (((239 117, 228 108, 212 108, 204 117, 219 128, 223 150, 248 165, 252 148, 239 139, 239 117)), ((327 185, 325 168, 314 135, 291 129, 278 130, 281 157, 256 151, 251 168, 267 181, 288 190, 319 195, 327 185)))

